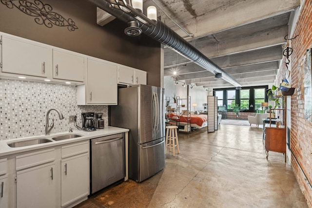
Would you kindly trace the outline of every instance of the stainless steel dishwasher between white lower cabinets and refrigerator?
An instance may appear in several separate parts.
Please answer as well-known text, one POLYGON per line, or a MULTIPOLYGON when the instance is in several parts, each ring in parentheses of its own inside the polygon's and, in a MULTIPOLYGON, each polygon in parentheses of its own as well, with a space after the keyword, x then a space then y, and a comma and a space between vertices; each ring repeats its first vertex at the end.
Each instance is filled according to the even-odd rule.
POLYGON ((124 133, 91 139, 91 193, 126 175, 124 133))

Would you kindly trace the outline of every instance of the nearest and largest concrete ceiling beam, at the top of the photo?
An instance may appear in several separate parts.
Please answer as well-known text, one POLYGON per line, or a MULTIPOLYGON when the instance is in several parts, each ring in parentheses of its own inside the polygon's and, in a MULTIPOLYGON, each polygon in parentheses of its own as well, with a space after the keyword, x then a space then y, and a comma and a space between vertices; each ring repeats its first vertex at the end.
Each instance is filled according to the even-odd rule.
MULTIPOLYGON (((239 0, 235 1, 232 5, 224 5, 215 11, 209 11, 201 16, 197 14, 196 18, 188 15, 190 19, 183 19, 178 22, 181 23, 184 29, 194 34, 193 38, 199 38, 261 19, 284 14, 295 10, 299 6, 300 0, 239 0), (222 10, 222 12, 219 12, 219 10, 222 10), (222 24, 220 24, 220 22, 222 22, 222 24)), ((185 36, 185 34, 171 22, 168 22, 168 26, 175 30, 180 36, 185 36)))

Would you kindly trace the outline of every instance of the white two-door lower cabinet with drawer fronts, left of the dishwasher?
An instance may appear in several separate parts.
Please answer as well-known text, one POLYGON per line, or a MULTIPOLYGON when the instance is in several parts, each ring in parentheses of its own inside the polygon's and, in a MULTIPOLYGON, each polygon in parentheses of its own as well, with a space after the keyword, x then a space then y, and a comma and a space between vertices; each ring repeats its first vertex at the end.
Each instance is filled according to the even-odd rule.
MULTIPOLYGON (((29 151, 15 158, 17 208, 68 208, 87 199, 89 141, 29 151)), ((0 185, 5 180, 0 176, 0 185)), ((0 208, 7 207, 7 195, 3 196, 0 208)))

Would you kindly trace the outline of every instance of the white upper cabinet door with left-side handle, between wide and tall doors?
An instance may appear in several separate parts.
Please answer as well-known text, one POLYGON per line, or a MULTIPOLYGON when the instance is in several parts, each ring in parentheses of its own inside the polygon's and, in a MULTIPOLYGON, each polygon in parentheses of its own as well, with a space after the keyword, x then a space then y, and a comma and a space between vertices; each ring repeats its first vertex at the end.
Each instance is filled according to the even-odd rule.
POLYGON ((84 57, 53 49, 53 78, 83 82, 84 57))

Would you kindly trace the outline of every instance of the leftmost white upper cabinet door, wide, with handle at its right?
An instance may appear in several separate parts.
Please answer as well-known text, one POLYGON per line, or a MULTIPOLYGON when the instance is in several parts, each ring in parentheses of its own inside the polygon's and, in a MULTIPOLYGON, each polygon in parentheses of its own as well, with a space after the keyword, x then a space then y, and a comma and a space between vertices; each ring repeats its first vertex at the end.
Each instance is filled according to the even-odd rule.
POLYGON ((2 35, 2 72, 47 77, 48 54, 44 44, 2 35))

